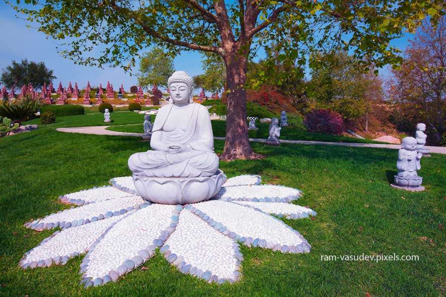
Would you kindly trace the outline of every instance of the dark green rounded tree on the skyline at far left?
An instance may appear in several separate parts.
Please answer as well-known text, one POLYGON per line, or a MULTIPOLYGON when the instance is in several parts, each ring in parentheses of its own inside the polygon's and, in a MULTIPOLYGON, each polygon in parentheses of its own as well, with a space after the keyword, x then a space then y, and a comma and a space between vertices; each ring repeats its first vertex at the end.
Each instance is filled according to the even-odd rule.
POLYGON ((43 84, 49 84, 56 79, 53 70, 48 69, 44 62, 34 62, 23 59, 20 63, 12 61, 11 65, 3 69, 0 81, 6 88, 21 88, 32 84, 33 88, 41 89, 43 84))

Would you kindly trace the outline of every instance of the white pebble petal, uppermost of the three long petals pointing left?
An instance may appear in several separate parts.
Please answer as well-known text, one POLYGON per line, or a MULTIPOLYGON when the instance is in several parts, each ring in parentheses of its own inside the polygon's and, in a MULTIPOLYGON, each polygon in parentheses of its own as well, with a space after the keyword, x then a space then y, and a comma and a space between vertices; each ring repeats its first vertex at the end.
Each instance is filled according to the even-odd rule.
POLYGON ((82 205, 85 202, 92 203, 92 202, 98 202, 98 201, 110 200, 128 196, 133 196, 133 195, 121 191, 119 189, 116 189, 114 187, 101 187, 64 195, 63 200, 70 203, 82 205), (77 200, 80 201, 78 202, 77 200))

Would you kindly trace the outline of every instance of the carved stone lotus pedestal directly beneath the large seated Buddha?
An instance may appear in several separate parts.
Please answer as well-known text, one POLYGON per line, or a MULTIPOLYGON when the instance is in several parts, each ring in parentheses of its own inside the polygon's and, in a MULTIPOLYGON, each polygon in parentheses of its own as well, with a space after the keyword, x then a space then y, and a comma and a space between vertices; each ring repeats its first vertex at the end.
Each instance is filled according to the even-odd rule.
POLYGON ((222 170, 210 177, 149 177, 133 175, 137 193, 147 201, 188 204, 214 197, 227 180, 222 170))

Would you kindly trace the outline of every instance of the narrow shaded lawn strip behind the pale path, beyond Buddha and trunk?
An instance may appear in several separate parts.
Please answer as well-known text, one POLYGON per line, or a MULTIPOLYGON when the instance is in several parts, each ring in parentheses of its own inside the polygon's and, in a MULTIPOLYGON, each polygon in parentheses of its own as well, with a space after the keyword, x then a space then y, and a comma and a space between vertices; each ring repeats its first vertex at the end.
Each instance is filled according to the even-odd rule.
MULTIPOLYGON (((153 116, 152 116, 153 117, 153 116)), ((154 119, 154 117, 153 117, 154 119)), ((249 131, 249 137, 251 138, 268 138, 269 124, 258 123, 257 131, 249 131)), ((226 121, 214 120, 212 121, 212 129, 214 130, 214 136, 225 136, 226 121)), ((131 126, 116 126, 110 127, 108 130, 120 131, 120 132, 132 132, 132 133, 144 133, 143 125, 131 125, 131 126)), ((368 144, 384 144, 368 139, 359 139, 345 136, 329 135, 322 133, 314 133, 294 127, 283 127, 280 130, 279 139, 286 140, 310 140, 310 141, 329 141, 329 142, 344 142, 344 143, 368 143, 368 144)))

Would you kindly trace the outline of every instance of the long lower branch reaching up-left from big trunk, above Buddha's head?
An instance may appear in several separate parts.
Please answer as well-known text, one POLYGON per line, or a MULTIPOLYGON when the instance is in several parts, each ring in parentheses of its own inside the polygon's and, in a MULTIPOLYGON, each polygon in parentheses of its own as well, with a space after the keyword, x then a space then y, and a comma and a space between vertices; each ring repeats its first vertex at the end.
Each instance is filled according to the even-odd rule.
POLYGON ((197 44, 191 44, 185 41, 181 41, 181 40, 175 40, 175 39, 171 39, 167 36, 162 35, 160 32, 150 28, 149 26, 147 26, 141 19, 139 19, 136 15, 135 15, 135 11, 128 9, 128 8, 124 8, 121 6, 116 5, 116 2, 114 0, 110 1, 110 6, 111 8, 113 8, 116 11, 119 11, 121 13, 125 13, 127 16, 129 16, 130 18, 132 18, 136 24, 138 24, 139 26, 142 27, 142 29, 149 34, 152 37, 156 37, 164 42, 176 45, 176 46, 180 46, 180 47, 185 47, 185 48, 189 48, 189 49, 196 49, 196 50, 203 50, 203 51, 211 51, 211 52, 217 52, 219 53, 219 48, 216 47, 209 47, 209 46, 200 46, 197 44))

